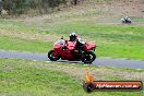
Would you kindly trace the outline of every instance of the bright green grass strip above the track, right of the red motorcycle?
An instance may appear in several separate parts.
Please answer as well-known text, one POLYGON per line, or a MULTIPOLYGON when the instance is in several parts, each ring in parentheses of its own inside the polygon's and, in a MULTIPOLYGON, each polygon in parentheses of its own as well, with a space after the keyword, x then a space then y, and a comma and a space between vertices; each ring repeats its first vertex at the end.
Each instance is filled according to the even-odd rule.
POLYGON ((106 44, 99 45, 97 48, 98 56, 128 58, 128 59, 144 59, 143 44, 106 44))

